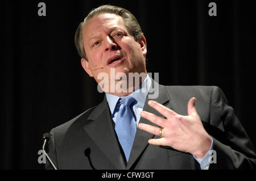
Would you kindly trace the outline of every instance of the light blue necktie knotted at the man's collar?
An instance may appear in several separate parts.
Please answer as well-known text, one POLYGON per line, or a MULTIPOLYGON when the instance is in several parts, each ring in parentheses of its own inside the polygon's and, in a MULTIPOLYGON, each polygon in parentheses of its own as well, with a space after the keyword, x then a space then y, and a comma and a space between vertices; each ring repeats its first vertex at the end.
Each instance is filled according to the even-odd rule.
POLYGON ((126 161, 128 162, 136 133, 136 123, 131 108, 137 103, 137 100, 132 96, 126 96, 120 99, 120 102, 123 104, 123 107, 117 115, 115 132, 125 153, 126 161))

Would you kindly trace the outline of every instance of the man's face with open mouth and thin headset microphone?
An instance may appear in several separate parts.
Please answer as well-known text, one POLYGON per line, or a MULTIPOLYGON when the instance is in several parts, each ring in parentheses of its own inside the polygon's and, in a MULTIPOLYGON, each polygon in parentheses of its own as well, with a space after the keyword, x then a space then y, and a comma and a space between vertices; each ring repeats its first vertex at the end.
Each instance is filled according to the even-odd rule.
MULTIPOLYGON (((85 71, 97 82, 99 73, 107 73, 110 68, 117 73, 146 73, 146 39, 135 41, 126 28, 121 16, 100 14, 86 22, 82 30, 83 44, 88 61, 82 58, 85 71)), ((113 79, 112 79, 113 81, 113 79)), ((118 79, 114 79, 118 81, 118 79)))

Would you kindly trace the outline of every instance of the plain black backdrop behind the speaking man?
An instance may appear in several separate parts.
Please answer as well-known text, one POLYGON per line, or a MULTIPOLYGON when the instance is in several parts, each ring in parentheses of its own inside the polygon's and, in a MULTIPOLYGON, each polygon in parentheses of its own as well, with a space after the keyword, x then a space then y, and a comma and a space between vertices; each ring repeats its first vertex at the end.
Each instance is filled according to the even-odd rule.
POLYGON ((164 85, 219 86, 256 145, 255 1, 1 1, 0 169, 44 169, 42 134, 101 102, 74 35, 91 9, 109 3, 141 24, 148 72, 164 85))

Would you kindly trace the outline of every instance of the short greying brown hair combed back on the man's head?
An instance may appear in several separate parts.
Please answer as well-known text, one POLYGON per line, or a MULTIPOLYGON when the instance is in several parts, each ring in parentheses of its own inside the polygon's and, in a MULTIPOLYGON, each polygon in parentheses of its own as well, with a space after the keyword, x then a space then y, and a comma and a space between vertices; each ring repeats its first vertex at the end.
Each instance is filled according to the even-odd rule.
POLYGON ((86 53, 84 50, 84 45, 82 41, 82 29, 84 28, 86 22, 89 19, 92 19, 96 15, 100 14, 116 14, 122 17, 125 26, 131 30, 133 33, 135 41, 139 41, 142 39, 142 30, 141 26, 139 26, 138 20, 135 18, 133 14, 131 14, 130 11, 123 9, 122 7, 112 6, 112 5, 103 5, 100 7, 97 7, 96 9, 93 9, 90 11, 88 16, 84 19, 84 22, 81 22, 79 26, 77 27, 76 34, 75 34, 75 45, 77 52, 79 53, 81 58, 85 58, 85 60, 88 60, 86 57, 86 53))

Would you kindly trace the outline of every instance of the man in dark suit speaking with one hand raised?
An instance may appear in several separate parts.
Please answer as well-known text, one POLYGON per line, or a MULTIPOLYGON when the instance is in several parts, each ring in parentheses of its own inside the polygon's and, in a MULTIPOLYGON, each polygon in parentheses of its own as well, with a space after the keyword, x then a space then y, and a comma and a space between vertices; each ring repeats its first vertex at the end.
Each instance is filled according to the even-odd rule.
POLYGON ((146 38, 129 11, 98 7, 75 42, 106 95, 51 130, 58 169, 255 168, 253 145, 218 87, 163 86, 148 77, 146 38))

